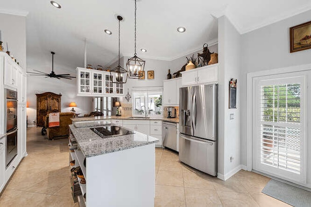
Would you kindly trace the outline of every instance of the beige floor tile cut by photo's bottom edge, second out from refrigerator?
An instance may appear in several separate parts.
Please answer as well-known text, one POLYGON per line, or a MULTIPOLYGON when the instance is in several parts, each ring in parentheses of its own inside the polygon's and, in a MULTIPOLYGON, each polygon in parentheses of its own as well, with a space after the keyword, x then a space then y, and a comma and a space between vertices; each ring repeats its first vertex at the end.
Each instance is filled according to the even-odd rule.
POLYGON ((222 207, 216 191, 185 188, 187 207, 222 207))

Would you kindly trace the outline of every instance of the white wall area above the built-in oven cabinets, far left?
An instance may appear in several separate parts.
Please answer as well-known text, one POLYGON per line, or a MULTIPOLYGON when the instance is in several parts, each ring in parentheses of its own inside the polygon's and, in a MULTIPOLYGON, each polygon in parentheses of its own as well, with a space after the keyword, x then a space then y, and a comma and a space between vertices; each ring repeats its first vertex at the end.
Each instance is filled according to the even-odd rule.
POLYGON ((26 17, 0 14, 0 31, 3 50, 7 50, 8 43, 11 55, 26 70, 26 17))

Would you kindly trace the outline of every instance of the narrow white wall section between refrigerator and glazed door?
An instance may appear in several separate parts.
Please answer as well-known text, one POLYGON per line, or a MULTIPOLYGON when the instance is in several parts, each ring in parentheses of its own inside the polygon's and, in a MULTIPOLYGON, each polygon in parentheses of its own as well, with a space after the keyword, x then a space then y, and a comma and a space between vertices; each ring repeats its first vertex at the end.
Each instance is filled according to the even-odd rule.
POLYGON ((218 173, 227 179, 240 169, 241 131, 240 131, 240 94, 241 86, 241 35, 226 16, 218 19, 219 49, 219 92, 218 92, 218 173), (237 79, 237 109, 229 109, 229 80, 237 79), (234 119, 230 120, 230 113, 234 119), (230 157, 233 157, 232 162, 230 157))

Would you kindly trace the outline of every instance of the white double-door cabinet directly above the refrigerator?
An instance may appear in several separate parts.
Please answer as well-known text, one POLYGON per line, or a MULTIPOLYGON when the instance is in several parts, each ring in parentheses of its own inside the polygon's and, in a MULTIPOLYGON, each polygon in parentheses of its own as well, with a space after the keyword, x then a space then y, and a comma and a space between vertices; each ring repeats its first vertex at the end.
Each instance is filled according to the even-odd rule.
POLYGON ((207 65, 204 67, 181 72, 182 86, 214 83, 218 81, 218 64, 207 65))

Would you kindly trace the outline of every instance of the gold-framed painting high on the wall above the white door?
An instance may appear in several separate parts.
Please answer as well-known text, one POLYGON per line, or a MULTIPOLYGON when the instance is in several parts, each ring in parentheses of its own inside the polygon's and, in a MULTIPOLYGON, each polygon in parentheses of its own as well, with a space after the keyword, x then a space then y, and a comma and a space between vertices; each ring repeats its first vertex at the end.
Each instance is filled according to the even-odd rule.
POLYGON ((290 28, 291 53, 311 48, 311 21, 290 28))

